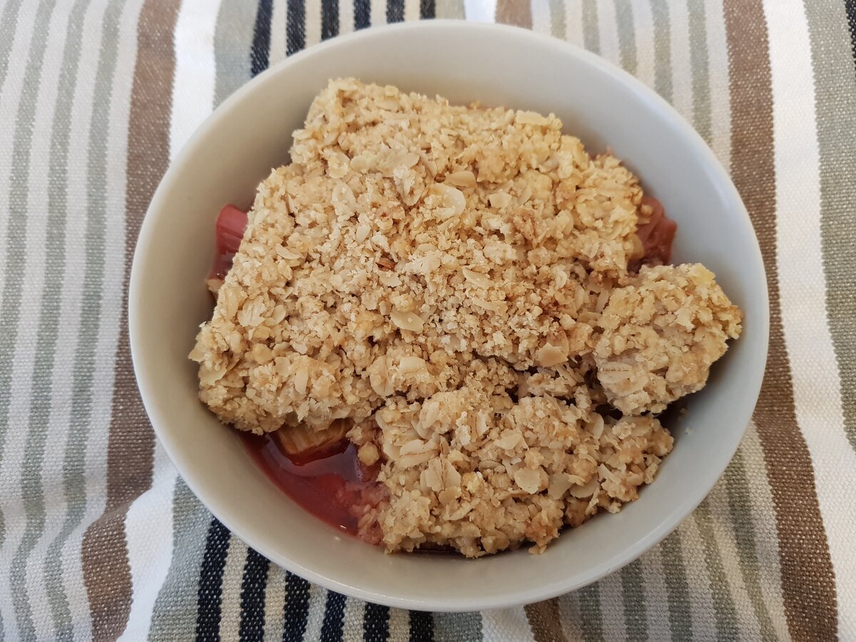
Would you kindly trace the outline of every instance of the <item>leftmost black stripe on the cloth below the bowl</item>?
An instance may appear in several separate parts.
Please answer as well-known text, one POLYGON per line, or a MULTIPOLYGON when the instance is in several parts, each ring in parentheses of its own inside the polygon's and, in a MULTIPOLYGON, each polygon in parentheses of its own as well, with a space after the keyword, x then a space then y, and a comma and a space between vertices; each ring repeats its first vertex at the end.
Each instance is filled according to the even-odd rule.
POLYGON ((196 639, 199 642, 220 639, 223 568, 226 568, 226 556, 229 554, 229 536, 226 526, 216 519, 211 520, 196 593, 196 639))

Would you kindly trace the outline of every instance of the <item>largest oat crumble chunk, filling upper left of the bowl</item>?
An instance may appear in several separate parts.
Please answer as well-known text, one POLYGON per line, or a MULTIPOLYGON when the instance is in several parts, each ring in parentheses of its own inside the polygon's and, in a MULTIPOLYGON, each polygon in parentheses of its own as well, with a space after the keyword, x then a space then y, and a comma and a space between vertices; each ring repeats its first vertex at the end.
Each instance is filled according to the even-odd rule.
POLYGON ((324 427, 455 389, 473 360, 590 352, 642 191, 561 128, 331 82, 259 186, 199 333, 202 400, 241 430, 324 427))

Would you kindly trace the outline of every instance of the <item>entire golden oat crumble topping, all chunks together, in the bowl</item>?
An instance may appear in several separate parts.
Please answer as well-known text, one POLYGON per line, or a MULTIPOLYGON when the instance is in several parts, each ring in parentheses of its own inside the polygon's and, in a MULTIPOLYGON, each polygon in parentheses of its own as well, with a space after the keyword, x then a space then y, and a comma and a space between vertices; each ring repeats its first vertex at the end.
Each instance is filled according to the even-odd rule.
POLYGON ((335 80, 292 163, 259 186, 191 354, 200 398, 254 432, 353 419, 389 491, 360 524, 379 523, 388 550, 543 550, 563 525, 617 511, 672 437, 600 406, 638 414, 698 389, 739 334, 704 268, 627 275, 648 213, 639 183, 561 130, 335 80), (640 302, 651 309, 634 316, 640 302), (651 361, 675 337, 681 366, 651 361))

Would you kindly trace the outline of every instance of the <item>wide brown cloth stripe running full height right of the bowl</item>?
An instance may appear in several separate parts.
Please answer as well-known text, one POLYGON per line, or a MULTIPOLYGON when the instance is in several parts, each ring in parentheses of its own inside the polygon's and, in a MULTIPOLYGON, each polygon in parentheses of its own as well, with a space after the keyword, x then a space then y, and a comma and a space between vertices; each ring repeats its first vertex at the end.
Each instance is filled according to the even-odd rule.
MULTIPOLYGON (((725 0, 731 175, 752 216, 770 289, 770 354, 755 422, 776 508, 782 592, 795 640, 835 639, 835 579, 811 457, 794 413, 776 270, 776 173, 770 51, 761 0, 725 0)), ((748 319, 747 323, 752 323, 748 319)))

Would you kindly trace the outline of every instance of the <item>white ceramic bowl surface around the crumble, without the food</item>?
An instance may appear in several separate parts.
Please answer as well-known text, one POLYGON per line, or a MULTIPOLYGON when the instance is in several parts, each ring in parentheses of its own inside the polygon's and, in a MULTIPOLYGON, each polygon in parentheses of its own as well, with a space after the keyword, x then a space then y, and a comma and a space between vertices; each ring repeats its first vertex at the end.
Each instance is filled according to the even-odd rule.
POLYGON ((531 603, 612 573, 671 532, 707 495, 746 429, 767 350, 758 241, 734 186, 669 104, 608 62, 513 27, 435 21, 370 29, 288 58, 235 92, 169 168, 146 215, 129 300, 134 367, 155 431, 199 499, 254 549, 321 586, 410 609, 531 603), (466 560, 386 555, 342 536, 277 490, 234 431, 197 398, 187 360, 211 316, 203 279, 214 221, 248 203, 333 77, 355 76, 456 103, 555 112, 591 151, 611 147, 679 223, 675 261, 700 261, 746 311, 743 336, 671 425, 675 451, 639 501, 564 532, 544 555, 466 560), (692 430, 690 430, 692 428, 692 430))

